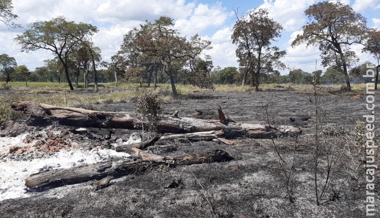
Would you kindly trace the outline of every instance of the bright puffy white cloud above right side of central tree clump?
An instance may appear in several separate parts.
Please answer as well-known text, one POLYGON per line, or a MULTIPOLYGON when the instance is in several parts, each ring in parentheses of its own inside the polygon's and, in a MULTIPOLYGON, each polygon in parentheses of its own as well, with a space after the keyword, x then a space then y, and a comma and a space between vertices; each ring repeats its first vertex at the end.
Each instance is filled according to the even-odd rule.
POLYGON ((182 18, 176 20, 174 27, 179 29, 184 35, 194 35, 209 27, 223 25, 227 16, 228 13, 221 7, 220 3, 213 6, 199 4, 188 19, 182 18))

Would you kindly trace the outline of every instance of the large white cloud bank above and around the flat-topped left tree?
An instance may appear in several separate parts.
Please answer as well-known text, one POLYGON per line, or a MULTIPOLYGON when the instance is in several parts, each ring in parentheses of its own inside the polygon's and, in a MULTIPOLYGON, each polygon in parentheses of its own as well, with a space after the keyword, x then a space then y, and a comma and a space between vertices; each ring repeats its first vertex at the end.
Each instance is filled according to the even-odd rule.
MULTIPOLYGON (((29 23, 65 16, 66 20, 96 25, 99 27, 99 32, 94 35, 93 41, 101 49, 103 60, 109 61, 110 56, 119 50, 123 35, 131 28, 137 27, 145 20, 153 21, 160 16, 169 16, 173 19, 186 18, 192 15, 196 5, 194 2, 186 3, 184 0, 146 0, 138 4, 131 0, 75 2, 72 0, 14 0, 13 6, 14 13, 19 16, 16 22, 22 24, 24 29, 10 30, 0 25, 0 41, 7 42, 0 47, 0 53, 9 54, 15 57, 19 65, 25 64, 30 70, 34 70, 35 67, 44 64, 43 60, 55 56, 45 50, 20 52, 20 46, 15 44, 13 39, 17 34, 21 34, 29 23)), ((201 13, 200 9, 198 13, 201 13)))

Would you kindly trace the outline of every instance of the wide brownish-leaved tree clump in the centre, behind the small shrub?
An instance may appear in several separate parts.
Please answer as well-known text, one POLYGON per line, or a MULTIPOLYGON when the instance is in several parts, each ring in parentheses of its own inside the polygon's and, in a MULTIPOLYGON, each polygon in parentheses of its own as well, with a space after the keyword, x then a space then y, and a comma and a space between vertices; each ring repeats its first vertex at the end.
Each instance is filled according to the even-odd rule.
MULTIPOLYGON (((197 59, 201 53, 210 48, 211 42, 201 39, 198 34, 190 40, 182 37, 179 31, 174 29, 173 19, 163 16, 153 23, 146 21, 140 28, 134 28, 125 34, 118 52, 118 56, 121 57, 114 57, 113 60, 118 60, 115 66, 122 60, 128 79, 135 78, 140 84, 146 78, 149 85, 154 73, 156 87, 158 71, 162 70, 169 76, 173 94, 176 95, 175 79, 195 83, 195 80, 184 77, 201 72, 202 67, 194 66, 201 63, 197 59)), ((202 62, 204 63, 206 62, 202 62)), ((207 73, 207 70, 202 72, 207 73)), ((195 83, 200 86, 202 84, 195 83)))

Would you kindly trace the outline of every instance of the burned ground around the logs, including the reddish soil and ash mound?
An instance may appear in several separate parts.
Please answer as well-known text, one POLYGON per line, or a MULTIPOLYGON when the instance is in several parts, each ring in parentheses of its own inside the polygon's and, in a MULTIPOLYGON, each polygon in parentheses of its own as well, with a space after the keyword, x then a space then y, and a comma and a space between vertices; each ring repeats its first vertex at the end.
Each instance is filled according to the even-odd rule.
MULTIPOLYGON (((168 116, 178 110, 179 118, 219 120, 220 106, 224 114, 236 123, 265 125, 269 121, 274 126, 298 127, 302 132, 298 136, 279 135, 274 140, 244 135, 224 135, 222 140, 194 140, 185 137, 158 140, 151 149, 144 151, 160 157, 203 154, 202 157, 199 156, 203 158, 203 163, 174 166, 150 160, 150 164, 143 165, 143 170, 134 169, 129 175, 110 179, 108 184, 108 181, 103 180, 105 184, 101 184, 89 179, 74 185, 27 190, 22 198, 10 197, 0 201, 0 215, 361 217, 365 213, 366 197, 365 171, 362 167, 365 151, 357 136, 360 129, 357 121, 362 120, 362 115, 366 113, 365 98, 321 95, 318 101, 320 116, 317 117, 314 114, 313 98, 312 94, 278 89, 263 92, 205 91, 163 104, 162 114, 168 116), (316 125, 319 126, 317 139, 316 125), (319 195, 325 187, 326 169, 332 165, 328 186, 318 206, 314 180, 316 144, 319 146, 319 195), (212 151, 224 151, 233 159, 212 159, 206 155, 212 151)), ((136 112, 134 102, 100 106, 102 111, 136 112)), ((135 132, 141 133, 140 130, 93 127, 84 130, 56 122, 47 126, 41 125, 41 122, 36 125, 34 122, 34 126, 30 126, 27 125, 28 122, 30 120, 3 124, 0 132, 4 136, 2 138, 25 135, 25 146, 12 148, 11 151, 3 149, 1 165, 9 162, 17 165, 18 162, 49 158, 64 151, 95 151, 97 154, 100 151, 109 152, 130 140, 135 132), (36 141, 40 142, 36 145, 36 141)), ((378 130, 377 121, 375 127, 378 130)), ((142 153, 138 155, 141 156, 142 153)), ((141 161, 135 157, 109 153, 91 163, 121 160, 141 161)), ((72 160, 67 160, 69 161, 72 160)), ((86 164, 82 165, 84 166, 86 164)), ((57 168, 62 167, 46 166, 40 173, 53 172, 57 168)), ((36 172, 28 174, 32 173, 36 172)), ((380 185, 378 180, 375 181, 376 187, 380 185)), ((6 192, 3 189, 0 195, 6 192)))

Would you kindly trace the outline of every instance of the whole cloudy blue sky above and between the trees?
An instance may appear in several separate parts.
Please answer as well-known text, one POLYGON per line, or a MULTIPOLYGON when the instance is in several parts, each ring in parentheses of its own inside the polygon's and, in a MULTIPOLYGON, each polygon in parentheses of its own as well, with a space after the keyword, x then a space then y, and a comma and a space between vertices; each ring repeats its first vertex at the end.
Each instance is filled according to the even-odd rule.
MULTIPOLYGON (((67 20, 92 23, 99 28, 93 42, 102 50, 102 58, 109 61, 116 54, 123 35, 131 28, 145 20, 153 21, 162 15, 172 17, 175 27, 183 35, 199 33, 204 39, 212 41, 211 55, 214 66, 238 66, 235 56, 236 46, 231 43, 231 30, 236 22, 234 9, 247 13, 254 8, 267 8, 270 16, 281 23, 285 31, 274 45, 286 50, 283 62, 289 68, 301 68, 305 71, 315 69, 315 59, 319 59, 317 48, 306 48, 305 45, 290 47, 291 40, 296 37, 306 22, 303 11, 316 0, 263 0, 263 1, 185 1, 185 0, 13 0, 14 13, 19 16, 18 23, 27 27, 28 23, 46 21, 57 16, 65 16, 67 20)), ((380 27, 380 0, 341 0, 349 4, 356 12, 367 18, 368 27, 380 27)), ((0 25, 0 54, 6 53, 15 57, 19 65, 25 64, 30 70, 44 65, 45 59, 54 58, 48 51, 22 53, 20 46, 13 38, 24 29, 8 29, 0 25)), ((358 64, 373 61, 371 55, 361 53, 360 46, 353 46, 360 58, 358 64)), ((318 69, 323 67, 318 66, 318 69)), ((287 74, 283 70, 282 74, 287 74)))

